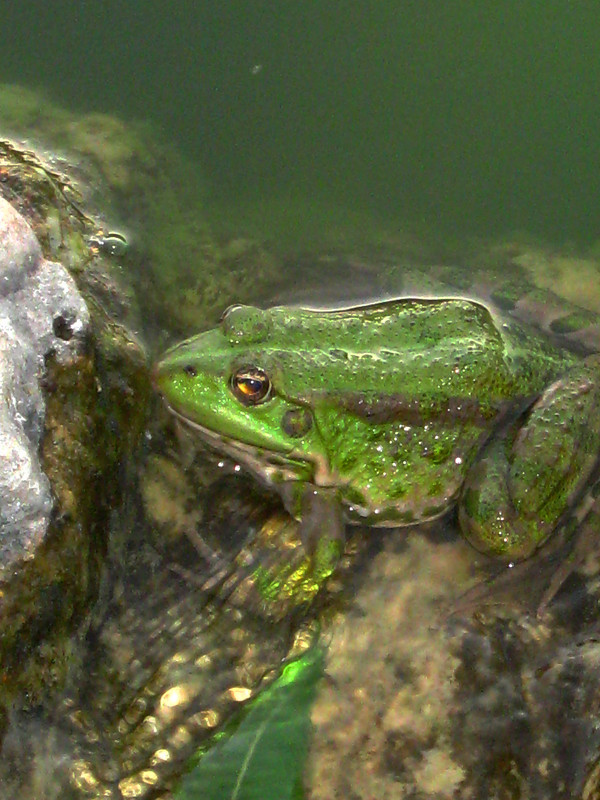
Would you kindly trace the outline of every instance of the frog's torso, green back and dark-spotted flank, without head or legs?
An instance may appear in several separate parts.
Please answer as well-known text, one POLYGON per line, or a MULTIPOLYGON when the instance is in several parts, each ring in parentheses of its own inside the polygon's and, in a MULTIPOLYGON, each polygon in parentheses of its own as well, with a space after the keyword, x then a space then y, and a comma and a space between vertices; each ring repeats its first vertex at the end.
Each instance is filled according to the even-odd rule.
POLYGON ((273 313, 302 343, 292 353, 275 335, 274 365, 313 410, 329 465, 320 481, 343 487, 348 518, 371 525, 443 513, 494 425, 576 358, 465 299, 273 313))

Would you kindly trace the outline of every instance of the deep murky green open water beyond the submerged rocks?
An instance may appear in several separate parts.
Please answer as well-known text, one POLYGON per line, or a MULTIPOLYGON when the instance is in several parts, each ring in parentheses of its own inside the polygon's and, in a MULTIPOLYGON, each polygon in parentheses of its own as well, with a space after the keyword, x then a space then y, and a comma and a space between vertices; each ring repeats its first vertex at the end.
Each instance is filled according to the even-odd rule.
POLYGON ((591 241, 597 15, 565 0, 9 4, 0 80, 153 120, 225 207, 303 198, 320 217, 336 204, 591 241))

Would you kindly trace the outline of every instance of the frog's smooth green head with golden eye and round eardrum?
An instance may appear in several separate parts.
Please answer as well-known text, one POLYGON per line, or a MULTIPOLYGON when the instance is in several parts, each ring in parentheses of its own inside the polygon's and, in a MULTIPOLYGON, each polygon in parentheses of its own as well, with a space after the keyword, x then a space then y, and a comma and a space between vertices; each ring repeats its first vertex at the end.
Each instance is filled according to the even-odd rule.
POLYGON ((262 467, 310 478, 327 469, 324 447, 306 398, 287 380, 290 370, 298 377, 302 343, 275 323, 276 311, 232 306, 219 327, 169 350, 154 367, 154 384, 170 410, 218 449, 251 452, 262 467))

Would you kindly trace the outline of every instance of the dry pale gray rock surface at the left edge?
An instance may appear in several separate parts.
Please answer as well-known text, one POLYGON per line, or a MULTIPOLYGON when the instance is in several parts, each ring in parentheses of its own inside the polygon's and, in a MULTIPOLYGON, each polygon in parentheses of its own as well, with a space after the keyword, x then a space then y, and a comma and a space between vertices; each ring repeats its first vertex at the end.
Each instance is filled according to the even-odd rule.
POLYGON ((89 312, 65 268, 42 256, 24 218, 0 198, 0 565, 31 558, 53 507, 39 459, 44 360, 82 351, 89 312))

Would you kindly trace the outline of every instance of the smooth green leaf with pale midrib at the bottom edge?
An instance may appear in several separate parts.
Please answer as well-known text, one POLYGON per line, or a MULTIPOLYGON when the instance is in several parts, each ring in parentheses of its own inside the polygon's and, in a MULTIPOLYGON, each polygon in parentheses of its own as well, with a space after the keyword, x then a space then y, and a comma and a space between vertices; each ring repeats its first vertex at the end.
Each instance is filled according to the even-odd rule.
POLYGON ((323 668, 319 647, 287 664, 235 731, 186 775, 176 800, 301 800, 310 708, 323 668))

